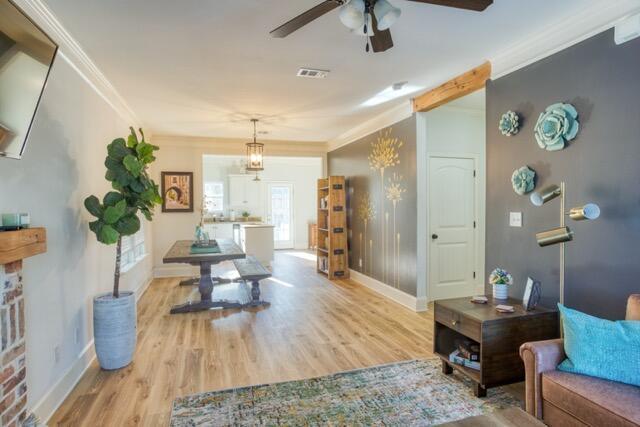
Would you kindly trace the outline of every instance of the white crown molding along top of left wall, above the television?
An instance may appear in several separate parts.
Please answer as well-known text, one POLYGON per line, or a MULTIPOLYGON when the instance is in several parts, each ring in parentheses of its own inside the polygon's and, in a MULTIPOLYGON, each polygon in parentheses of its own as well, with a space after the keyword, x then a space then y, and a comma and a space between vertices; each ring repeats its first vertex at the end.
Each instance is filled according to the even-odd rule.
POLYGON ((124 98, 41 0, 13 1, 58 44, 58 56, 69 63, 124 121, 132 126, 141 126, 140 120, 124 98))

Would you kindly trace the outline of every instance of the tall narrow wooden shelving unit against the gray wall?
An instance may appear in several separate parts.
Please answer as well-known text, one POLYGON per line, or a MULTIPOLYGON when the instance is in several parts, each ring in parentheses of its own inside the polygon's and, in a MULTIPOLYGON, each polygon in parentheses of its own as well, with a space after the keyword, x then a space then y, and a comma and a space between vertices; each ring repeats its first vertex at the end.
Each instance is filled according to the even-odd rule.
POLYGON ((347 194, 343 176, 318 180, 318 272, 331 280, 349 277, 347 194))

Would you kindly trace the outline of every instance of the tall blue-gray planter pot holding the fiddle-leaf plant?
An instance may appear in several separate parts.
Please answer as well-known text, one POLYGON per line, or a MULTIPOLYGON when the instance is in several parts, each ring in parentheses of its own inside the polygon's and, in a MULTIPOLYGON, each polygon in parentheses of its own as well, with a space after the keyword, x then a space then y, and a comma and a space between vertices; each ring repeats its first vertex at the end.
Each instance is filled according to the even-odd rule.
POLYGON ((93 337, 102 369, 120 369, 136 350, 136 297, 133 292, 98 295, 93 299, 93 337))

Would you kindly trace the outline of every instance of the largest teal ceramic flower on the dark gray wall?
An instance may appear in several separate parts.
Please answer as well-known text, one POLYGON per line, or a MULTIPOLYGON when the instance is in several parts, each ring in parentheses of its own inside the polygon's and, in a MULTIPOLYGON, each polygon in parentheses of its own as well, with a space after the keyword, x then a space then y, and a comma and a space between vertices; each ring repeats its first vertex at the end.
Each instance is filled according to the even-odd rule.
POLYGON ((535 136, 540 148, 558 151, 564 148, 578 134, 578 112, 571 104, 553 104, 540 114, 536 123, 535 136))

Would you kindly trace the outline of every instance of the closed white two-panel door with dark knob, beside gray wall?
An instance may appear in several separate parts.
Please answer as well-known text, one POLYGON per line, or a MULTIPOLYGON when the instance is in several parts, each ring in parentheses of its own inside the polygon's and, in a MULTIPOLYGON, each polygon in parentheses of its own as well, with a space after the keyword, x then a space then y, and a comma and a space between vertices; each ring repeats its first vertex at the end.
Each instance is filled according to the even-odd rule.
POLYGON ((476 179, 473 158, 430 157, 429 299, 475 293, 476 179))

